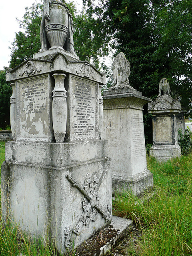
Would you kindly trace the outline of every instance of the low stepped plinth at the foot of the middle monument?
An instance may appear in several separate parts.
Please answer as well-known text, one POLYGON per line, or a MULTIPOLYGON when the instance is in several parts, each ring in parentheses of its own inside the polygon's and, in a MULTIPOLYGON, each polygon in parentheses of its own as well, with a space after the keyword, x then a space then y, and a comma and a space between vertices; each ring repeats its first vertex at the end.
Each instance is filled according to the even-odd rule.
POLYGON ((116 192, 122 193, 123 190, 126 190, 140 197, 144 191, 152 190, 152 188, 153 174, 149 170, 132 176, 112 174, 113 195, 116 192))

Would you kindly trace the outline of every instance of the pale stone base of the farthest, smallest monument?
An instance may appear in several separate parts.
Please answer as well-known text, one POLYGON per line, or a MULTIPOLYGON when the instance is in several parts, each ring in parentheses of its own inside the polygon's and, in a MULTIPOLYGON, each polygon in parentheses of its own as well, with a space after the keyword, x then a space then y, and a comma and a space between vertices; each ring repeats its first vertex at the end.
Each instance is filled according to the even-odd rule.
POLYGON ((171 158, 181 157, 181 148, 177 145, 153 145, 150 148, 150 156, 154 156, 160 162, 166 162, 171 158))

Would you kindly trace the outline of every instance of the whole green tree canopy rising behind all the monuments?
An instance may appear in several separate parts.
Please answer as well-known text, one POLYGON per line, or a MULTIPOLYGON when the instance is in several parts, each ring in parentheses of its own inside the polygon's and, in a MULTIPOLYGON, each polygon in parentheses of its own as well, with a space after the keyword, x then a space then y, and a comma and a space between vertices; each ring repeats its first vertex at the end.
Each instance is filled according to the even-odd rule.
MULTIPOLYGON (((74 16, 74 48, 80 60, 91 61, 98 68, 109 49, 114 57, 124 52, 131 64, 131 86, 155 99, 158 84, 166 77, 171 95, 179 97, 190 113, 192 1, 83 0, 83 4, 80 13, 74 2, 67 4, 74 16)), ((16 33, 11 68, 40 50, 42 7, 35 2, 26 8, 23 20, 18 20, 24 32, 16 33)), ((111 71, 108 76, 112 77, 111 71)))

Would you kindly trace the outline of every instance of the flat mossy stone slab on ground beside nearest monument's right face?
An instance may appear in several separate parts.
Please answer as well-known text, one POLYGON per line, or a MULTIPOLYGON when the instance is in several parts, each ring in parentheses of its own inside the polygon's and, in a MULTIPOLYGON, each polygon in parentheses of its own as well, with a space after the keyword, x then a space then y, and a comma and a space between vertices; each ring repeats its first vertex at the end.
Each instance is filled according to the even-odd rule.
POLYGON ((112 216, 111 225, 96 233, 81 246, 76 248, 78 256, 105 255, 115 246, 118 240, 124 238, 133 228, 133 220, 127 220, 117 216, 112 216))

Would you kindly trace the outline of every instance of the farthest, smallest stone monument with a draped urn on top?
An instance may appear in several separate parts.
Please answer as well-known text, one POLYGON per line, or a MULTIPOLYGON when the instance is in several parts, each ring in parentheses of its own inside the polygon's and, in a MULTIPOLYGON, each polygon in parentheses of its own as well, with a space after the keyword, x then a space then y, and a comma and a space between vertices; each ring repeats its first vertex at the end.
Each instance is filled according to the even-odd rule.
POLYGON ((180 157, 178 145, 178 115, 181 111, 178 99, 170 96, 170 86, 166 78, 159 84, 159 94, 156 100, 148 103, 148 112, 153 116, 153 146, 150 156, 159 161, 180 157))

